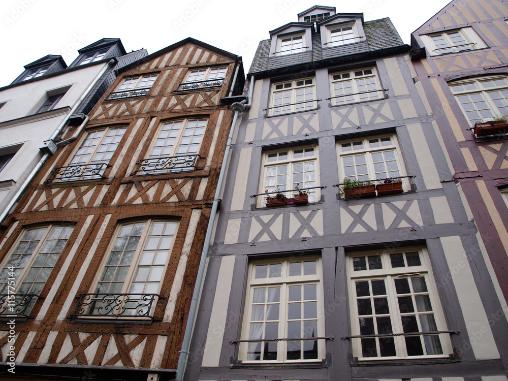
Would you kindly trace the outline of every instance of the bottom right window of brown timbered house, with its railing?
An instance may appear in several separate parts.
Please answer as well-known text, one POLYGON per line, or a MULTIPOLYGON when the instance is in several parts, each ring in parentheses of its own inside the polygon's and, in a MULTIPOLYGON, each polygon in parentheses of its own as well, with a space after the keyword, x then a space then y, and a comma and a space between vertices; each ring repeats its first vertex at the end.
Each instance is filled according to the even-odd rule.
MULTIPOLYGON (((120 225, 95 281, 80 299, 82 316, 151 317, 178 223, 148 219, 120 225)), ((78 305, 79 307, 79 305, 78 305)))

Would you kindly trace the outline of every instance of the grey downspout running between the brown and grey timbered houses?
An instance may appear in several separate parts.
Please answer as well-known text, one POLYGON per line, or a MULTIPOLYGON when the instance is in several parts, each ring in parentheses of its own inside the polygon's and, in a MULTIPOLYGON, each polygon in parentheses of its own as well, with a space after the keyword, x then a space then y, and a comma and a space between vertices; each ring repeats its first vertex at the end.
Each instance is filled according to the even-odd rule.
POLYGON ((206 229, 205 242, 203 244, 203 251, 201 252, 201 260, 199 263, 198 276, 196 278, 196 285, 194 286, 194 294, 192 301, 190 302, 189 316, 187 319, 187 326, 185 327, 185 334, 183 336, 182 349, 179 352, 180 358, 178 359, 178 368, 176 369, 176 380, 182 381, 183 372, 185 371, 185 365, 187 362, 187 356, 189 354, 190 336, 194 328, 194 320, 196 319, 196 313, 198 309, 198 298, 201 292, 201 284, 203 283, 203 276, 205 272, 206 258, 208 257, 208 250, 210 248, 210 240, 212 238, 213 225, 215 224, 215 217, 217 216, 217 206, 219 203, 220 192, 224 183, 224 176, 226 174, 226 167, 229 160, 229 154, 231 151, 231 142, 233 141, 233 135, 235 133, 236 122, 238 115, 246 109, 249 109, 252 105, 252 92, 254 89, 254 76, 251 77, 250 87, 248 93, 248 103, 235 102, 231 105, 231 110, 235 112, 233 116, 233 122, 231 123, 231 131, 229 133, 228 142, 226 144, 226 150, 224 151, 224 158, 222 167, 220 168, 219 179, 217 181, 217 188, 215 189, 215 197, 213 198, 212 210, 210 212, 210 219, 208 221, 208 228, 206 229))

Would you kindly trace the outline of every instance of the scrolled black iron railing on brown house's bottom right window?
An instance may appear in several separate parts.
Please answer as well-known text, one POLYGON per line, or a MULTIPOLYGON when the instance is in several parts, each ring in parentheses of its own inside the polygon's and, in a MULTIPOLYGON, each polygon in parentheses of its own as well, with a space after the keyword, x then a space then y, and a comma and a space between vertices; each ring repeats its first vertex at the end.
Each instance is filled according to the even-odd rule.
POLYGON ((153 320, 150 315, 157 294, 81 294, 73 317, 108 317, 125 320, 131 317, 144 317, 153 320))

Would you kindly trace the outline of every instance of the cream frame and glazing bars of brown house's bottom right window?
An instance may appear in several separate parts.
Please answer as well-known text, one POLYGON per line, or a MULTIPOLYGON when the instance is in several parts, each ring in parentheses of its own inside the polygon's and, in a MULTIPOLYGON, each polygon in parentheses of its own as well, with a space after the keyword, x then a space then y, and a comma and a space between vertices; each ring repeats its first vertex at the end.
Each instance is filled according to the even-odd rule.
MULTIPOLYGON (((92 287, 90 288, 90 293, 93 295, 110 294, 111 298, 114 298, 116 295, 119 295, 119 294, 135 294, 135 295, 159 294, 161 292, 162 284, 163 284, 165 277, 166 277, 166 272, 168 270, 169 262, 172 258, 174 242, 176 239, 176 235, 178 234, 179 226, 180 226, 180 223, 177 220, 159 219, 159 218, 147 218, 147 219, 141 219, 141 220, 133 220, 133 221, 118 224, 115 229, 115 233, 112 236, 111 241, 108 245, 108 249, 104 255, 104 258, 103 258, 103 261, 100 265, 99 271, 97 271, 97 274, 93 280, 92 287), (151 232, 151 229, 154 227, 154 224, 161 224, 161 223, 166 224, 165 226, 168 226, 168 229, 170 229, 169 231, 172 231, 172 234, 164 235, 164 234, 162 234, 162 233, 164 233, 164 231, 163 231, 160 235, 150 235, 149 233, 151 232), (138 237, 138 235, 132 235, 132 230, 128 236, 119 236, 119 235, 122 234, 121 232, 122 232, 123 228, 125 228, 125 230, 127 230, 130 225, 132 225, 134 228, 134 226, 136 224, 144 224, 144 226, 143 226, 141 234, 139 235, 140 238, 139 238, 136 246, 134 247, 134 249, 131 248, 131 250, 129 250, 129 248, 128 248, 129 240, 132 237, 138 237), (164 236, 166 236, 166 237, 170 236, 171 242, 169 243, 169 246, 167 246, 164 249, 161 249, 160 245, 163 244, 162 237, 164 237, 164 236), (127 238, 124 245, 122 246, 123 248, 119 247, 119 245, 121 244, 122 237, 127 238), (148 245, 151 245, 151 243, 149 241, 152 237, 153 237, 153 241, 157 241, 156 246, 154 246, 155 248, 152 248, 152 246, 148 246, 148 245), (157 237, 158 237, 158 239, 157 239, 157 237), (117 245, 117 246, 115 247, 115 245, 117 245), (116 248, 116 250, 115 250, 115 248, 116 248), (133 257, 130 259, 131 263, 129 265, 122 263, 123 259, 125 258, 124 254, 126 251, 134 251, 133 257), (148 261, 149 255, 147 255, 147 257, 145 257, 145 254, 149 253, 150 251, 153 251, 153 255, 152 255, 152 259, 150 261, 148 261), (162 263, 162 261, 160 259, 157 259, 158 254, 161 251, 167 252, 166 259, 164 260, 164 263, 162 263), (115 254, 113 252, 120 253, 118 260, 116 261, 116 266, 114 264, 111 265, 111 263, 114 263, 113 258, 115 256, 115 254), (143 263, 145 258, 148 258, 147 262, 143 263), (118 265, 120 265, 120 266, 118 266, 118 265), (123 266, 121 266, 121 265, 123 265, 123 266), (127 272, 124 272, 121 270, 121 267, 124 267, 124 268, 128 267, 129 269, 127 272), (142 268, 149 269, 148 274, 146 274, 144 281, 142 279, 143 275, 139 271, 142 268), (154 268, 158 268, 158 270, 162 270, 162 271, 152 272, 152 270, 154 268), (111 272, 108 274, 108 271, 110 269, 112 269, 112 272, 113 272, 112 276, 110 276, 111 272), (157 277, 157 273, 159 275, 158 277, 157 277), (152 276, 153 276, 153 278, 150 278, 152 276), (111 279, 109 279, 109 277, 111 277, 111 279), (121 277, 123 277, 124 279, 121 279, 121 277), (110 283, 110 286, 107 288, 107 290, 104 290, 104 287, 101 288, 100 283, 110 283), (121 284, 121 289, 117 290, 114 288, 113 290, 111 290, 112 283, 121 284), (152 289, 152 290, 148 290, 148 291, 136 292, 137 290, 134 290, 134 291, 132 290, 134 283, 139 283, 139 284, 145 283, 144 288, 147 287, 146 283, 158 283, 158 284, 157 284, 156 290, 152 289)), ((163 228, 163 229, 165 229, 165 228, 163 228)), ((153 287, 153 286, 154 285, 152 284, 151 287, 153 287)), ((101 299, 102 299, 102 297, 96 296, 95 299, 93 299, 93 297, 92 297, 92 300, 95 300, 96 303, 98 303, 98 305, 94 306, 93 301, 89 302, 88 305, 90 306, 90 310, 93 310, 93 308, 99 308, 99 306, 101 305, 101 299)), ((136 299, 134 297, 131 297, 130 299, 132 301, 136 301, 136 300, 141 300, 142 302, 147 301, 147 300, 145 301, 144 299, 136 299)), ((157 300, 158 300, 158 297, 155 297, 155 299, 151 305, 151 309, 150 309, 150 311, 148 311, 148 314, 153 314, 157 300)), ((128 301, 126 299, 125 300, 118 299, 118 302, 120 304, 128 303, 128 301)), ((90 312, 90 310, 88 312, 90 312)), ((120 309, 118 309, 118 311, 120 311, 120 309)), ((108 314, 108 315, 93 314, 93 313, 92 314, 93 314, 93 319, 103 318, 103 319, 107 320, 107 319, 118 319, 119 317, 126 317, 128 319, 129 318, 136 319, 137 312, 138 312, 138 310, 136 309, 133 311, 133 313, 126 313, 125 315, 117 314, 117 313, 115 313, 115 311, 112 311, 112 313, 108 314)), ((146 312, 146 310, 144 312, 146 312)), ((89 319, 91 316, 78 316, 78 317, 79 317, 79 319, 89 319)))

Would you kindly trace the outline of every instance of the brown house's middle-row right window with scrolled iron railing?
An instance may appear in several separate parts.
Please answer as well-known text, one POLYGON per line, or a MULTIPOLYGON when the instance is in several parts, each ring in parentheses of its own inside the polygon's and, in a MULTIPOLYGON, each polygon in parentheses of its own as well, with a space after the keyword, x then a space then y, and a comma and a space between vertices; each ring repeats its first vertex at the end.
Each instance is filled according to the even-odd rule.
POLYGON ((163 123, 148 158, 136 172, 156 174, 196 168, 198 152, 208 119, 183 119, 163 123))

